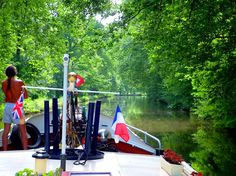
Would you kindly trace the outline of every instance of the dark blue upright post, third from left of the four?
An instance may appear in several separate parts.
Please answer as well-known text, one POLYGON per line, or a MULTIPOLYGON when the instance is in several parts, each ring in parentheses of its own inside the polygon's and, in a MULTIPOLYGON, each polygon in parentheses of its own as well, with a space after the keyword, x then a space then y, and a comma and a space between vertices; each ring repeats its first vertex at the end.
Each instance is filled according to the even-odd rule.
POLYGON ((93 125, 93 113, 94 113, 94 103, 89 103, 88 109, 88 121, 85 134, 85 151, 89 155, 91 150, 91 134, 92 134, 92 125, 93 125))

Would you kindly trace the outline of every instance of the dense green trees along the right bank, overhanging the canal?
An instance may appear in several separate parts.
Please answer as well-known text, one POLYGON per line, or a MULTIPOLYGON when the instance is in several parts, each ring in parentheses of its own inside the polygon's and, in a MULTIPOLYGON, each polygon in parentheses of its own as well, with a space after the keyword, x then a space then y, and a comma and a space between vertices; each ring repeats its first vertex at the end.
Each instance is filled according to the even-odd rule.
POLYGON ((150 97, 170 107, 194 108, 215 126, 235 127, 234 5, 229 0, 124 1, 123 38, 145 50, 128 52, 122 61, 145 52, 150 79, 140 79, 150 97))

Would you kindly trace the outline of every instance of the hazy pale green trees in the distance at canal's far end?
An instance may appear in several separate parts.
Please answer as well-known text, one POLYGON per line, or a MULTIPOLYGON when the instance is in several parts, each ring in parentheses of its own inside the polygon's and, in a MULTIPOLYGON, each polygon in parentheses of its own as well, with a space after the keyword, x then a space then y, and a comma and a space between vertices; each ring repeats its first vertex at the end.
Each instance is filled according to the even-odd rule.
POLYGON ((148 79, 149 70, 145 49, 130 36, 124 36, 116 45, 119 47, 114 46, 111 56, 117 59, 115 66, 119 75, 119 91, 123 94, 145 92, 143 84, 148 79))

